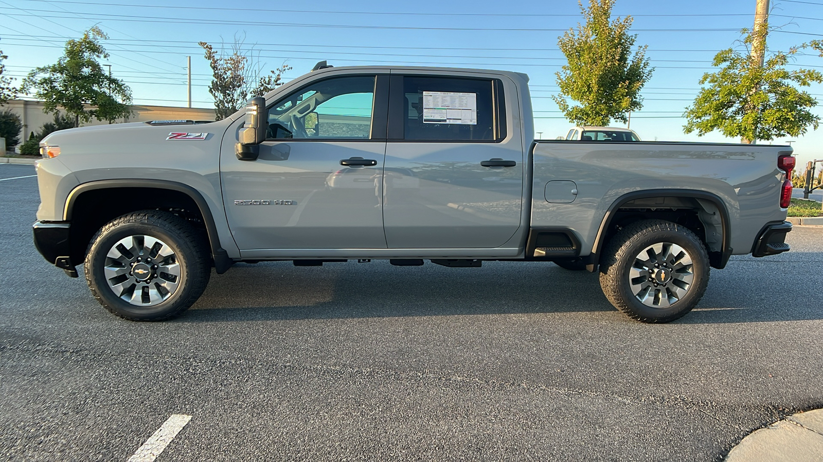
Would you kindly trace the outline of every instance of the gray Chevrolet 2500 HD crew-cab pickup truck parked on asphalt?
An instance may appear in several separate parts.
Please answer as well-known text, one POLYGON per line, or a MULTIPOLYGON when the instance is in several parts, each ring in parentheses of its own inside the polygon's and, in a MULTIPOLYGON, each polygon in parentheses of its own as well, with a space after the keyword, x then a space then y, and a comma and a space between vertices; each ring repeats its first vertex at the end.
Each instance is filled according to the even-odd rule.
POLYGON ((666 322, 710 267, 789 250, 790 146, 534 141, 532 123, 524 74, 319 66, 219 122, 47 136, 35 245, 137 321, 190 307, 212 267, 384 259, 599 271, 615 307, 666 322))

